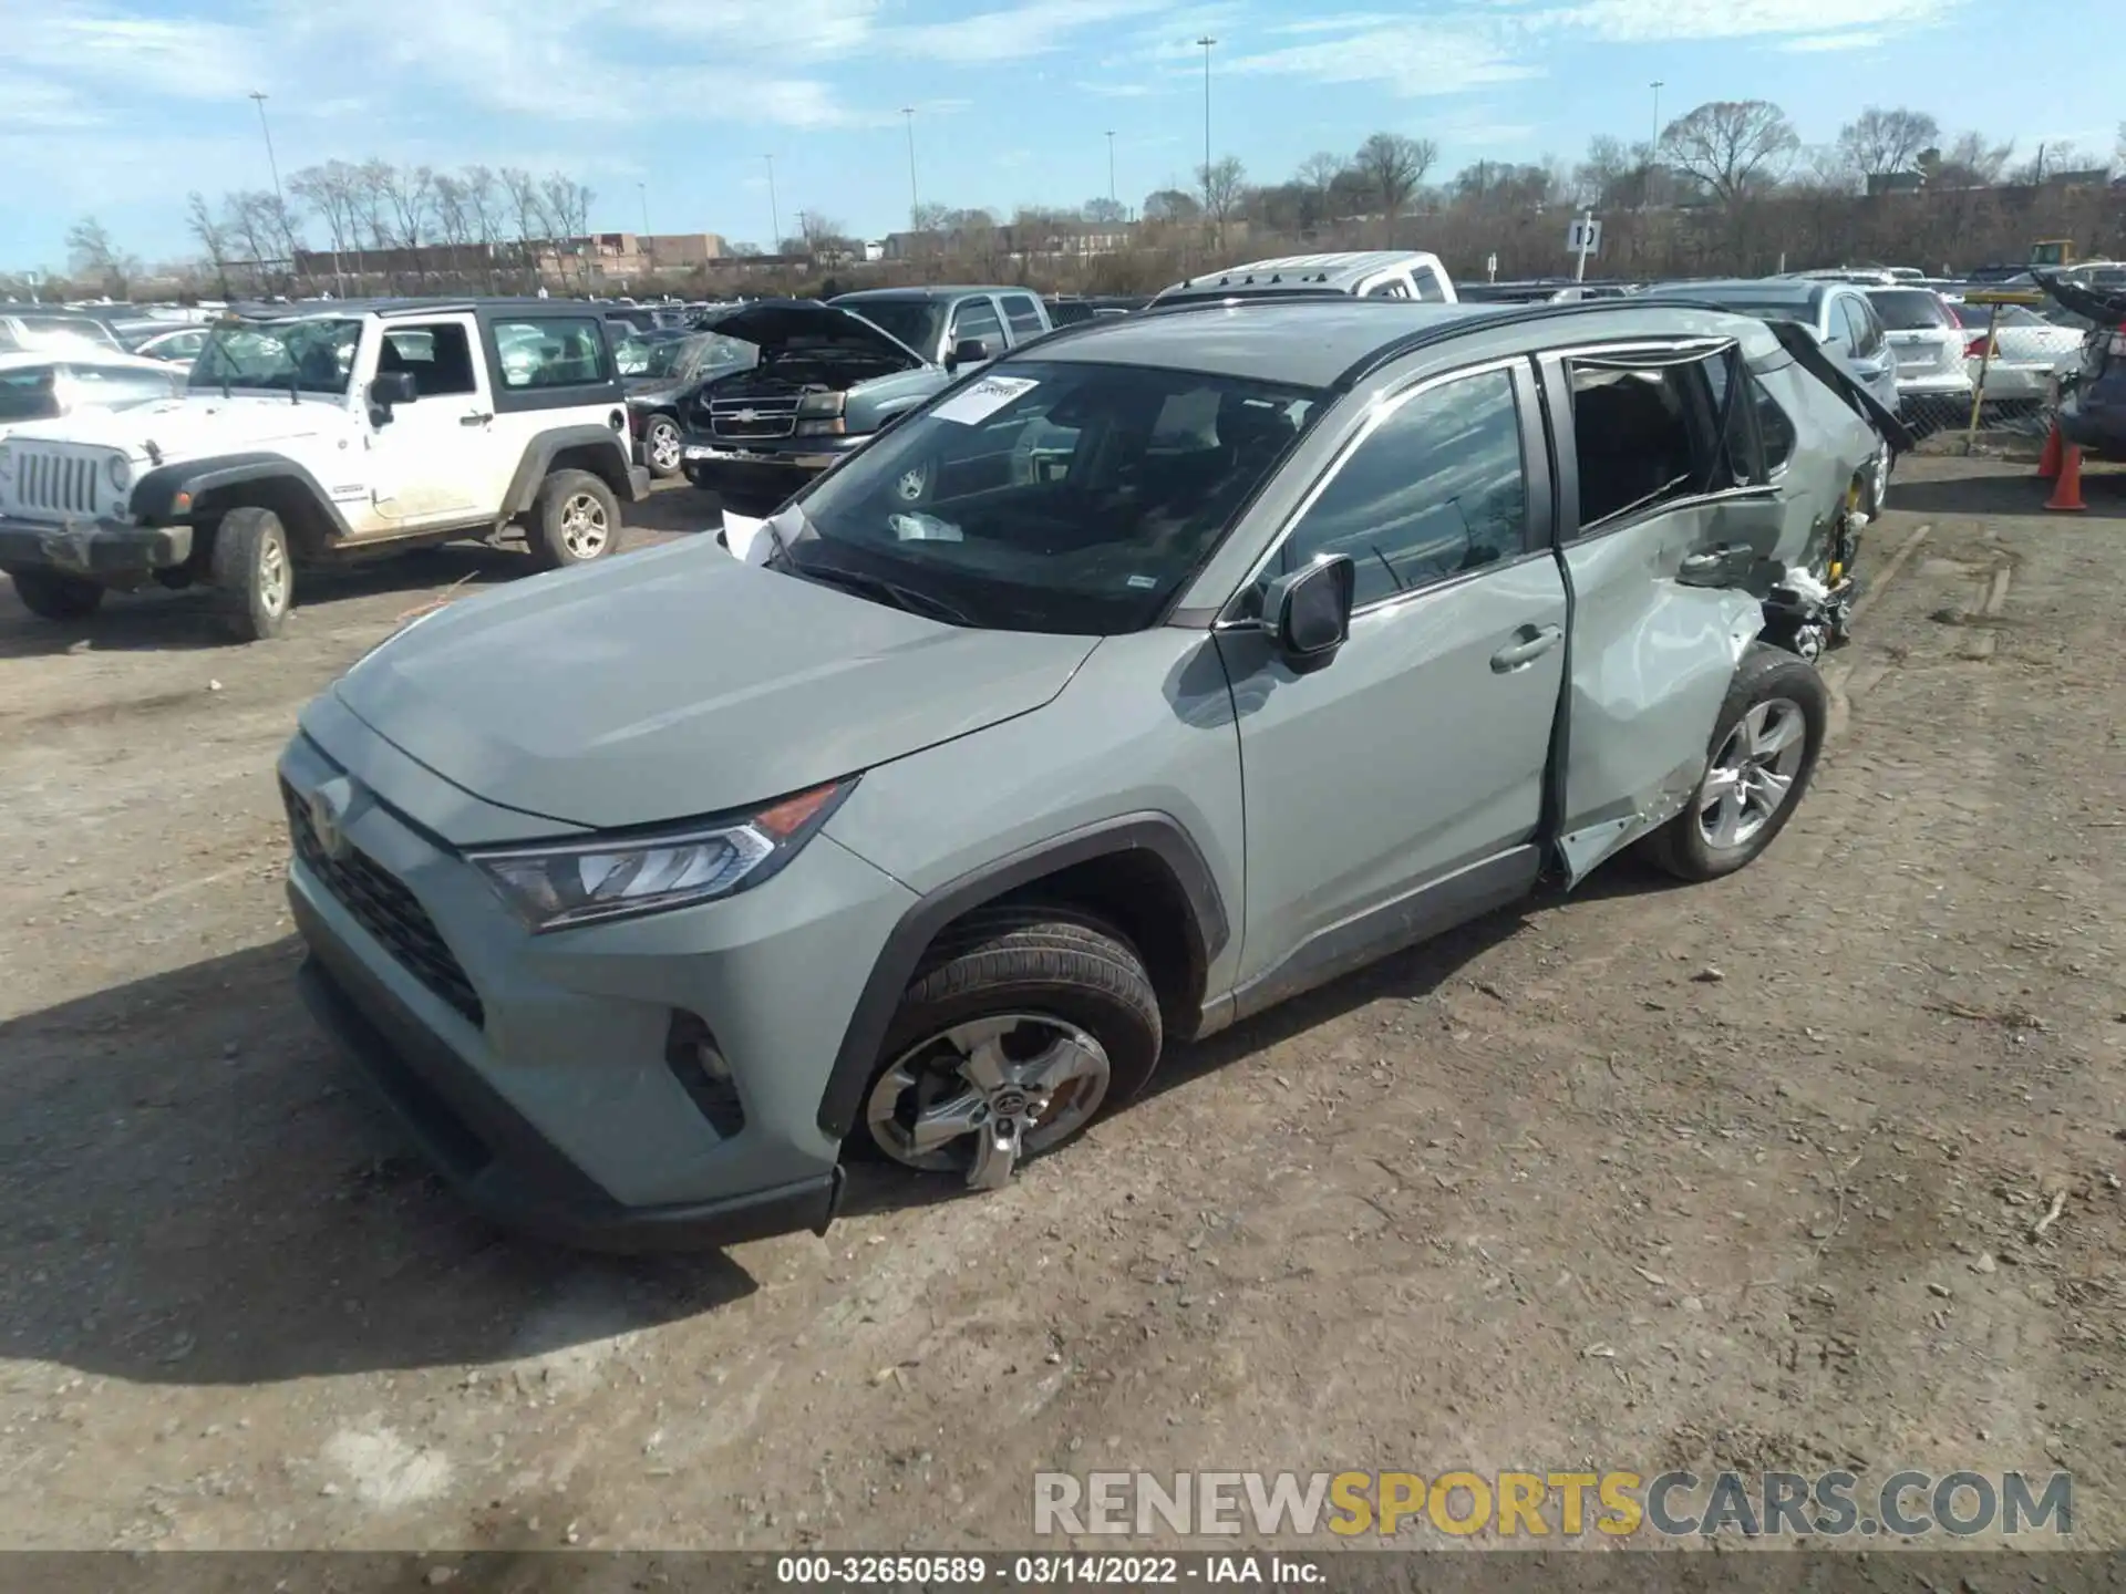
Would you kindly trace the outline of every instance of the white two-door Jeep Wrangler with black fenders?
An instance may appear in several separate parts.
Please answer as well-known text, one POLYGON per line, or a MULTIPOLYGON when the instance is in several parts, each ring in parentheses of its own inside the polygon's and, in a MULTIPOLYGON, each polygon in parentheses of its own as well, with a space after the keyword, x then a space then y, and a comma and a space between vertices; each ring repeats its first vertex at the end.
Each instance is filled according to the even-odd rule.
POLYGON ((614 546, 627 400, 591 306, 291 306, 215 325, 181 400, 0 442, 0 570, 34 614, 108 589, 215 589, 244 642, 281 631, 298 565, 523 529, 542 567, 614 546))

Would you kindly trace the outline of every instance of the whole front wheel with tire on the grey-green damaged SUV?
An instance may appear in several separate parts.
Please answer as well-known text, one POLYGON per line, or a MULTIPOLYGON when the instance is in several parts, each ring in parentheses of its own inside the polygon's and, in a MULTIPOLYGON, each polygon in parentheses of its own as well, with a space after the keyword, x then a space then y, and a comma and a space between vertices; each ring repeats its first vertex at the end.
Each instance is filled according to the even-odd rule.
POLYGON ((853 1139, 995 1188, 1142 1090, 1161 1041, 1159 995, 1114 927, 1054 903, 980 908, 916 969, 853 1139), (982 1056, 1001 1069, 986 1090, 974 1078, 982 1056), (933 1143, 918 1141, 918 1112, 940 1126, 933 1143))

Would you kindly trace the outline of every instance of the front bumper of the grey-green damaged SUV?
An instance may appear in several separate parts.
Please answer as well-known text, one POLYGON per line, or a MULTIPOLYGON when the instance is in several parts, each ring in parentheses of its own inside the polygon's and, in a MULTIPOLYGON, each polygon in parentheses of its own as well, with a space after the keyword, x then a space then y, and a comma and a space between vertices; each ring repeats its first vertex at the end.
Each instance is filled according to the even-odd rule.
POLYGON ((353 788, 353 865, 315 848, 289 865, 304 997, 474 1205, 593 1250, 825 1228, 840 1146, 819 1103, 906 886, 814 835, 759 891, 532 935, 434 840, 521 840, 521 814, 449 788, 332 699, 304 727, 281 759, 291 808, 353 788), (736 1124, 668 1056, 682 1014, 729 1067, 736 1124))

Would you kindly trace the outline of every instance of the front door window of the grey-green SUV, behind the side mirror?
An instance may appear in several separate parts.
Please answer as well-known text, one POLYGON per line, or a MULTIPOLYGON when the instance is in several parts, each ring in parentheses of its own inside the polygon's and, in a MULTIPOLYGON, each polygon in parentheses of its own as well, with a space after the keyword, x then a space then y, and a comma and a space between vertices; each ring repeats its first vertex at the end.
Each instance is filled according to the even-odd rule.
POLYGON ((1350 555, 1363 608, 1526 546, 1520 406, 1512 374, 1495 370, 1429 387, 1376 425, 1299 516, 1271 574, 1350 555))

